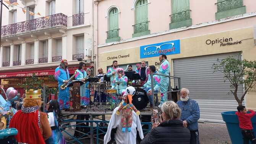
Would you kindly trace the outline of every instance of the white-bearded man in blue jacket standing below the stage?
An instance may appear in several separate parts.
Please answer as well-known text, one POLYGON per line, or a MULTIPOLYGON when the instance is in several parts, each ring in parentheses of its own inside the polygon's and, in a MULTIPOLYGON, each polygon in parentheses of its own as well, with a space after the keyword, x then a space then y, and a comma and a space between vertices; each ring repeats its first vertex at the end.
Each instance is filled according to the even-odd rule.
POLYGON ((180 91, 180 100, 177 102, 181 109, 181 120, 183 126, 190 130, 190 144, 199 144, 198 120, 200 118, 200 110, 198 103, 190 99, 190 92, 183 88, 180 91))

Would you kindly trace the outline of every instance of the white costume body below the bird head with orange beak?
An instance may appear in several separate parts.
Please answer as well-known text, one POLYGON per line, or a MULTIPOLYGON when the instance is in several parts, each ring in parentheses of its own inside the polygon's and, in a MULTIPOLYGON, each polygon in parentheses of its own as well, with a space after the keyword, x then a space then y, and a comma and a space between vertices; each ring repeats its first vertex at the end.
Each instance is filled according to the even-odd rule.
POLYGON ((133 123, 131 125, 131 132, 129 133, 127 130, 125 133, 122 132, 122 123, 121 123, 121 116, 116 115, 116 111, 120 106, 116 107, 113 110, 112 116, 109 121, 109 126, 107 128, 107 133, 104 136, 104 144, 107 144, 111 139, 111 130, 117 128, 117 132, 115 134, 115 141, 117 144, 136 144, 136 136, 137 130, 139 132, 139 137, 141 139, 144 138, 143 131, 141 127, 141 121, 139 120, 139 116, 133 111, 133 123))

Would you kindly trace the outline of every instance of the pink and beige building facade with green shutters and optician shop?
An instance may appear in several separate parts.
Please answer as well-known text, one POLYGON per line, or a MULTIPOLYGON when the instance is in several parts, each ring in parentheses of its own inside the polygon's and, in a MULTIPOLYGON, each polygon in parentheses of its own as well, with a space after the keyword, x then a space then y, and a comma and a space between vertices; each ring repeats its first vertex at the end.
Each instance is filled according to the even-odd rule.
MULTIPOLYGON (((126 68, 142 60, 158 67, 159 54, 171 64, 171 75, 198 101, 201 120, 222 122, 220 112, 236 110, 229 83, 212 73, 217 58, 256 60, 256 2, 251 0, 94 0, 97 15, 98 66, 113 60, 126 68)), ((135 67, 133 67, 133 70, 135 67)), ((172 87, 177 81, 172 81, 172 87)), ((241 95, 243 87, 239 87, 241 95)), ((245 105, 256 110, 256 91, 245 105)))

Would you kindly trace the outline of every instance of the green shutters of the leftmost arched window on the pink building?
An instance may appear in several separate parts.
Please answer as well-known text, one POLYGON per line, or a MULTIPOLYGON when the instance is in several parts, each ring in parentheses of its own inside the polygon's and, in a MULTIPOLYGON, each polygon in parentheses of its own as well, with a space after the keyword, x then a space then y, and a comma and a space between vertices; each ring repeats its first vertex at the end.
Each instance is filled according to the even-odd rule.
POLYGON ((109 12, 109 31, 118 29, 118 10, 113 8, 109 12))

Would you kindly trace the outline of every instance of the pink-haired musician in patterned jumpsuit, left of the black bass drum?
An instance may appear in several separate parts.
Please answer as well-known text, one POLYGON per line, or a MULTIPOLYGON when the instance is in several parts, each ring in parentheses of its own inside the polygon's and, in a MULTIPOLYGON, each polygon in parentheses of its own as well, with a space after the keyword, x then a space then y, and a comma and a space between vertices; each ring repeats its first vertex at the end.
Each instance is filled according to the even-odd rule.
POLYGON ((128 81, 128 78, 127 78, 127 76, 125 76, 125 72, 123 71, 123 69, 117 68, 117 78, 115 78, 113 80, 112 89, 116 89, 118 95, 125 94, 125 89, 127 87, 127 81, 128 81), (117 82, 120 82, 120 84, 118 85, 117 82), (118 91, 118 89, 119 89, 119 91, 118 91))

